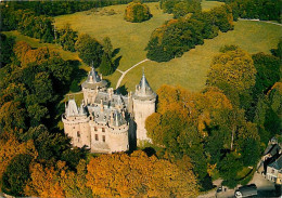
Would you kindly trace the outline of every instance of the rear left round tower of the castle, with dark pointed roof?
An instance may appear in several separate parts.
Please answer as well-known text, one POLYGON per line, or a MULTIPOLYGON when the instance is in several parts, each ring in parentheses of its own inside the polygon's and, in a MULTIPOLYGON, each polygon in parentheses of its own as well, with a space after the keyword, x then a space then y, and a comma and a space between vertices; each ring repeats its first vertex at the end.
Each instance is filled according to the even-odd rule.
POLYGON ((87 80, 81 84, 86 105, 93 104, 98 91, 106 91, 106 85, 107 82, 103 80, 102 76, 99 76, 94 67, 92 67, 87 80))

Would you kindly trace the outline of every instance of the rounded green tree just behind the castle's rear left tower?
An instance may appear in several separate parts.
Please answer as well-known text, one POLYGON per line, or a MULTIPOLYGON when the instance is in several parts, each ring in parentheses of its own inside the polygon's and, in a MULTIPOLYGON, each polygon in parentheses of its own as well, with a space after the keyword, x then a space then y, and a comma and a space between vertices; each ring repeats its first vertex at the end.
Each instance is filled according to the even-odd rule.
POLYGON ((88 65, 93 63, 98 67, 101 63, 103 54, 102 45, 89 35, 80 35, 76 41, 76 50, 79 52, 79 57, 88 65))

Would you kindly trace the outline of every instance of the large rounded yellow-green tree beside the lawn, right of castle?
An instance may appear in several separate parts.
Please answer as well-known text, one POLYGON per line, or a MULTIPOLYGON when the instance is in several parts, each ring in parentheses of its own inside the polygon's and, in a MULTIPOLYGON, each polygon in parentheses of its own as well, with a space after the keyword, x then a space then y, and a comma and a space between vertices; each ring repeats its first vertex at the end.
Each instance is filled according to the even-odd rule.
POLYGON ((248 106, 256 72, 247 52, 241 49, 227 51, 214 57, 207 84, 221 89, 234 105, 248 106))

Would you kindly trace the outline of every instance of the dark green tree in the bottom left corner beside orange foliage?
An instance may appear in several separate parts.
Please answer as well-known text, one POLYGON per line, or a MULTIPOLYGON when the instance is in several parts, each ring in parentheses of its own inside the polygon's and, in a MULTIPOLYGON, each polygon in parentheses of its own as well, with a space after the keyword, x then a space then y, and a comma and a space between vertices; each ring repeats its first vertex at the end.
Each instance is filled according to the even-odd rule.
POLYGON ((13 196, 24 196, 24 187, 29 179, 30 155, 15 156, 2 176, 2 190, 13 196))

